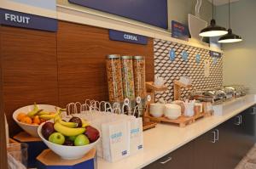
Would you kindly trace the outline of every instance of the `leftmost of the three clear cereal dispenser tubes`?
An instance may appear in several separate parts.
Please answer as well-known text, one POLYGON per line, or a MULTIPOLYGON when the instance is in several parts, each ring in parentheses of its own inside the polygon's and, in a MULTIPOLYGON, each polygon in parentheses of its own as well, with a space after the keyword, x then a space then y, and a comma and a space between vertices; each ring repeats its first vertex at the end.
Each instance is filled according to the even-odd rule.
POLYGON ((110 102, 124 100, 121 74, 121 61, 119 54, 109 54, 106 59, 108 75, 108 96, 110 102))

